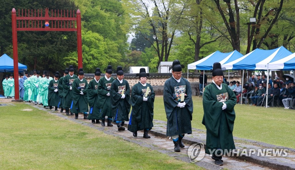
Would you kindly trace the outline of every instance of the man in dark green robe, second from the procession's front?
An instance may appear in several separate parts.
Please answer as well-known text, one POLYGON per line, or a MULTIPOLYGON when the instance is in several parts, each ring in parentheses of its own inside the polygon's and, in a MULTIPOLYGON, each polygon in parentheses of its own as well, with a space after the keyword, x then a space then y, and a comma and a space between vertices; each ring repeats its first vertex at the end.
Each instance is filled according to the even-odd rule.
POLYGON ((166 136, 171 136, 174 151, 180 152, 184 148, 182 139, 184 134, 191 134, 191 120, 193 114, 193 101, 191 99, 191 86, 183 77, 179 60, 172 64, 172 77, 164 84, 164 106, 167 117, 166 136))

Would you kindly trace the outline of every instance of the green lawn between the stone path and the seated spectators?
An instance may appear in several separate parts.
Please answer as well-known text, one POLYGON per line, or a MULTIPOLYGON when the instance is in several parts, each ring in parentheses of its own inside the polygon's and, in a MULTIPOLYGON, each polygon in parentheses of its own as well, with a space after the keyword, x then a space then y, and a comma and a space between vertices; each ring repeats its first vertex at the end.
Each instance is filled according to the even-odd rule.
MULTIPOLYGON (((204 115, 202 98, 193 96, 193 102, 192 127, 206 130, 201 123, 204 115)), ((154 119, 167 121, 163 97, 156 97, 154 105, 154 119)), ((235 112, 234 136, 295 148, 295 110, 237 104, 235 112)))

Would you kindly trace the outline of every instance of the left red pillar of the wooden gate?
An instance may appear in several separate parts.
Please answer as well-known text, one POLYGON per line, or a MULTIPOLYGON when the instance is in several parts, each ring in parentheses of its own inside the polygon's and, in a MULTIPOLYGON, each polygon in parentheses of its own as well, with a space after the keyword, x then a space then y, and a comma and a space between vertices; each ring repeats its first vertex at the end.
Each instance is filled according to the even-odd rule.
MULTIPOLYGON (((13 8, 12 18, 12 47, 13 47, 13 72, 14 72, 14 98, 19 101, 19 80, 18 80, 18 55, 17 55, 17 14, 13 8)), ((13 100, 14 101, 14 100, 13 100)))

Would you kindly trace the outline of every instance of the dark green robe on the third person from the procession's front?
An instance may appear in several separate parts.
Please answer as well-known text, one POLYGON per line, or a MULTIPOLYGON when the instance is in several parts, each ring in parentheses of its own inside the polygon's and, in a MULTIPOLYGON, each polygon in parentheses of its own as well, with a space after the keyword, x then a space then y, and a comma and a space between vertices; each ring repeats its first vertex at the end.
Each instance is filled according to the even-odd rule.
POLYGON ((132 111, 128 124, 128 130, 131 132, 140 131, 143 129, 152 129, 154 118, 154 101, 155 92, 150 84, 143 86, 140 82, 132 87, 131 92, 131 106, 132 111), (147 87, 150 87, 148 91, 148 101, 143 101, 147 87))

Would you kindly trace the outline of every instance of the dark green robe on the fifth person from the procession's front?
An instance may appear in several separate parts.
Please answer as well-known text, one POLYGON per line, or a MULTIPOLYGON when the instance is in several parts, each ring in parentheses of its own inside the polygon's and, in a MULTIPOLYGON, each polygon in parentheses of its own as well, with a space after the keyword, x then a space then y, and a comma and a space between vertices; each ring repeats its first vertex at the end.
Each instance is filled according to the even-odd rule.
MULTIPOLYGON (((111 96, 106 96, 106 94, 110 93, 112 82, 115 79, 110 77, 110 80, 106 80, 106 77, 102 77, 98 82, 98 101, 99 107, 101 108, 100 116, 104 119, 105 116, 113 116, 111 109, 111 96)), ((111 94, 111 93, 110 93, 111 94)))

